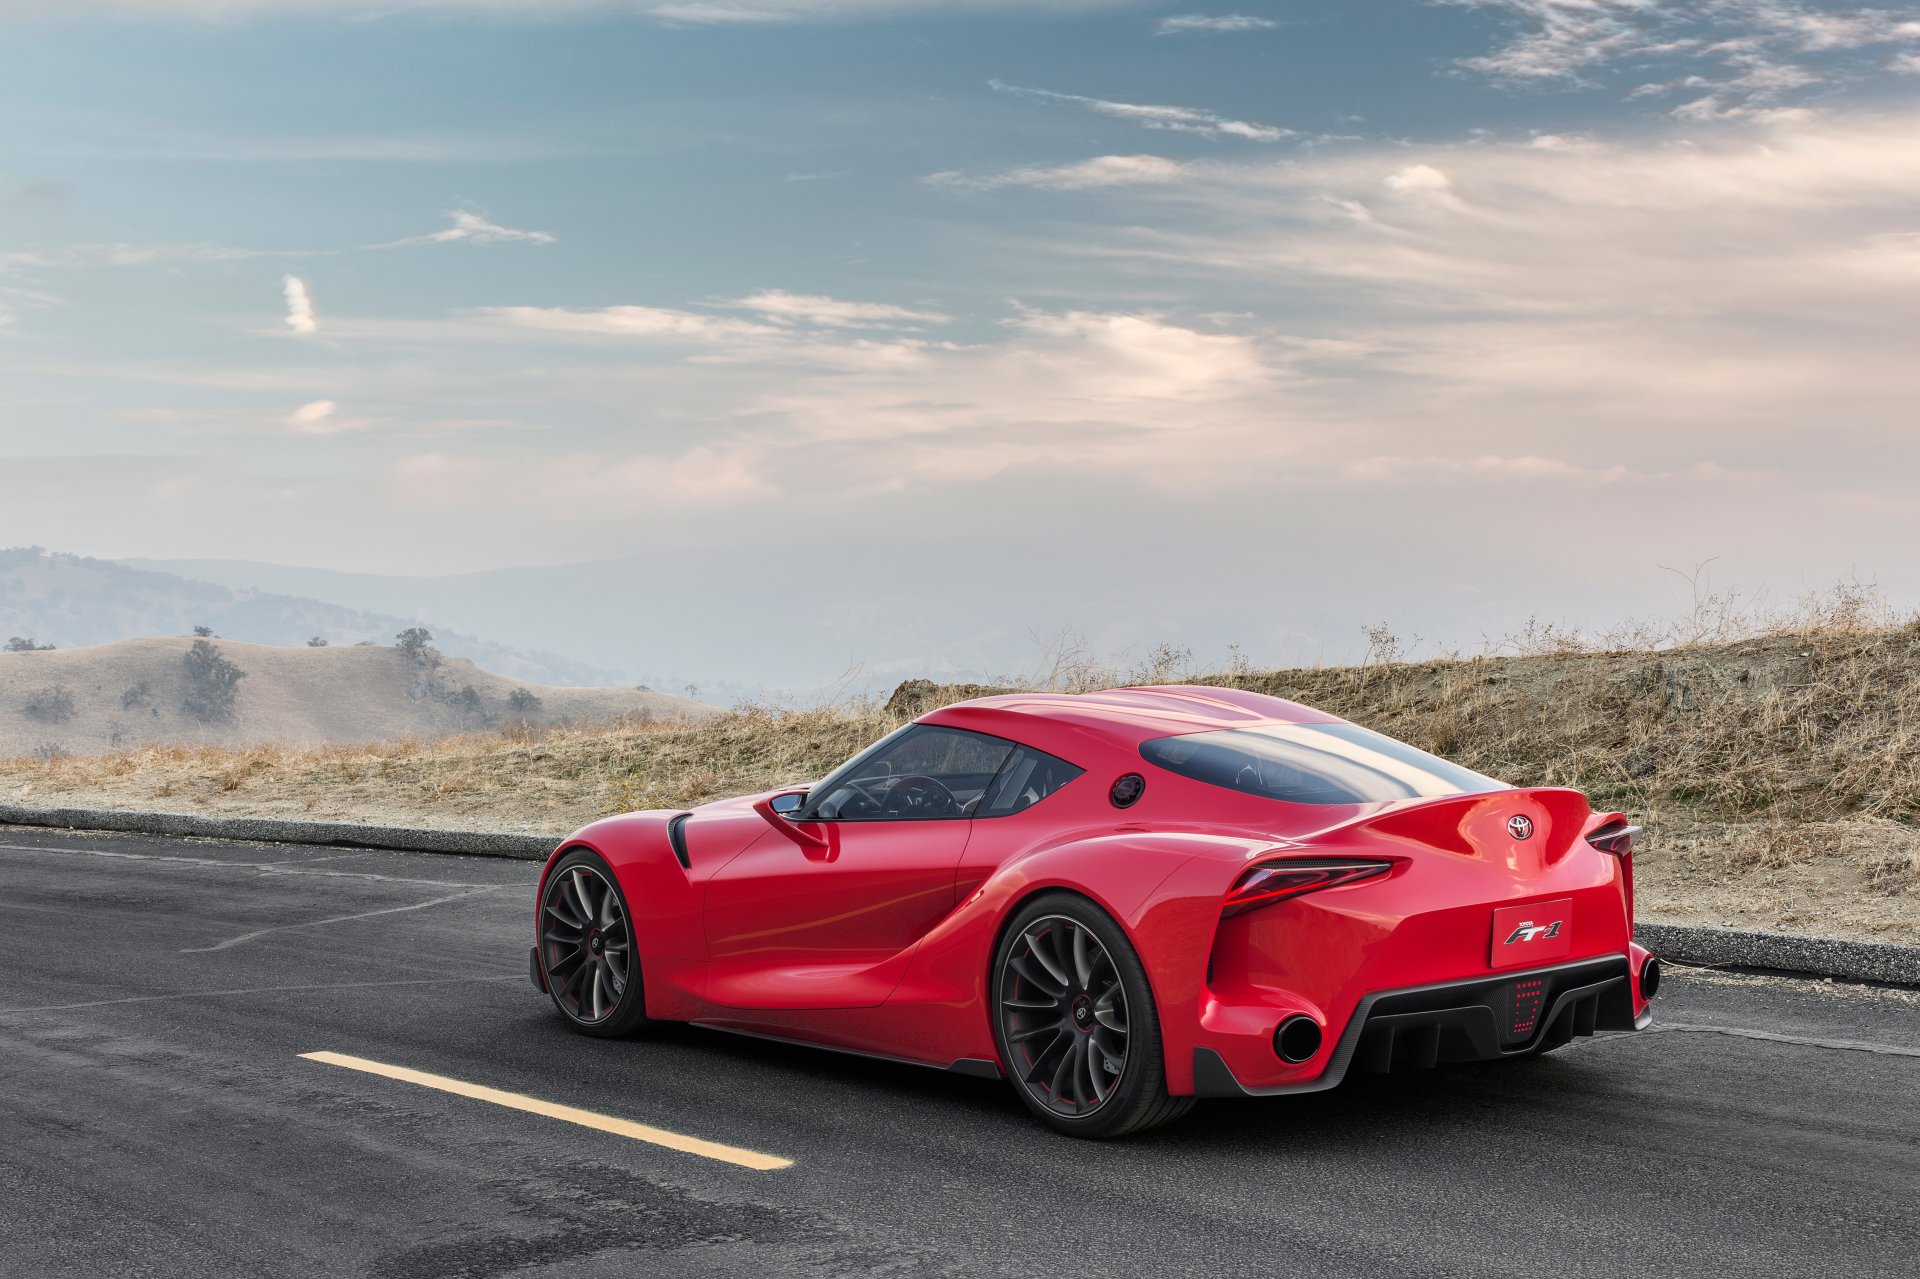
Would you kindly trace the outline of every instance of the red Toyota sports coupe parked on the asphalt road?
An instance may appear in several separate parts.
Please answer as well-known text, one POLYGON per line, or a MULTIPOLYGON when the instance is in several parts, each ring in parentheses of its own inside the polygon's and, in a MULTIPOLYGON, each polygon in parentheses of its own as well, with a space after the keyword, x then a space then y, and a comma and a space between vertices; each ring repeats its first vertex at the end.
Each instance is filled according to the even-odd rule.
POLYGON ((1117 1137, 1644 1027, 1632 833, 1277 697, 1016 693, 810 787, 588 826, 540 878, 532 977, 588 1035, 1004 1075, 1117 1137))

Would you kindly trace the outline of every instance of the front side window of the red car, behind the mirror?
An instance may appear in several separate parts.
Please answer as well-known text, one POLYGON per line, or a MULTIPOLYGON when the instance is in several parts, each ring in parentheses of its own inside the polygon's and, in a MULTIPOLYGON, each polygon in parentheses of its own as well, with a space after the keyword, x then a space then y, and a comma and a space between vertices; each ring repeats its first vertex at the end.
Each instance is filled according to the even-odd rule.
POLYGON ((958 728, 910 728, 828 778, 803 822, 924 822, 979 807, 1014 743, 958 728))

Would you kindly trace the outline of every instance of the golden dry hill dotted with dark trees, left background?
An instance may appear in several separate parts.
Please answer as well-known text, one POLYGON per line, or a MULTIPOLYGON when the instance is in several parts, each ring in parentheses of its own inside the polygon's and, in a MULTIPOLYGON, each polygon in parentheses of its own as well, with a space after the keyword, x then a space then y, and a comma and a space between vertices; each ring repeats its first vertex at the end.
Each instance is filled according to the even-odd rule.
POLYGON ((699 718, 712 707, 645 689, 551 688, 463 657, 386 645, 280 649, 211 641, 244 672, 228 716, 188 711, 194 640, 121 640, 0 653, 0 755, 142 745, 288 747, 442 737, 495 724, 699 718))

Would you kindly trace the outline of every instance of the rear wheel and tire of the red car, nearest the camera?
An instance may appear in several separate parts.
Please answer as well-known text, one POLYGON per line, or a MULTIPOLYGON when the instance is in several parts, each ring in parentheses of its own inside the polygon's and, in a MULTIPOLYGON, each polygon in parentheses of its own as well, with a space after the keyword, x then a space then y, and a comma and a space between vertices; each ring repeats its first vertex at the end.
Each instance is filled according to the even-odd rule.
POLYGON ((1054 1131, 1125 1137, 1192 1108, 1192 1097, 1167 1097, 1160 1014, 1140 956, 1085 897, 1043 893, 1023 905, 995 949, 991 981, 1000 1066, 1054 1131))

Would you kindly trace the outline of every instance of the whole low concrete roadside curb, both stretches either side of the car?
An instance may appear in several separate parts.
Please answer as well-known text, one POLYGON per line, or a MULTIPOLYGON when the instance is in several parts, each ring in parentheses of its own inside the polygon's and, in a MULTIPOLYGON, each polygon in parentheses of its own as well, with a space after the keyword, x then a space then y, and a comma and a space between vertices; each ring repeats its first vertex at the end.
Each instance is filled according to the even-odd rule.
MULTIPOLYGON (((0 805, 0 826, 104 830, 138 835, 200 835, 261 843, 324 843, 401 853, 461 853, 545 860, 564 835, 505 835, 474 830, 361 826, 357 822, 290 822, 280 818, 213 818, 186 812, 123 812, 117 808, 33 808, 0 805)), ((1661 958, 1682 964, 1770 968, 1849 981, 1920 985, 1920 947, 1878 941, 1745 933, 1730 928, 1640 924, 1634 939, 1661 958)))

